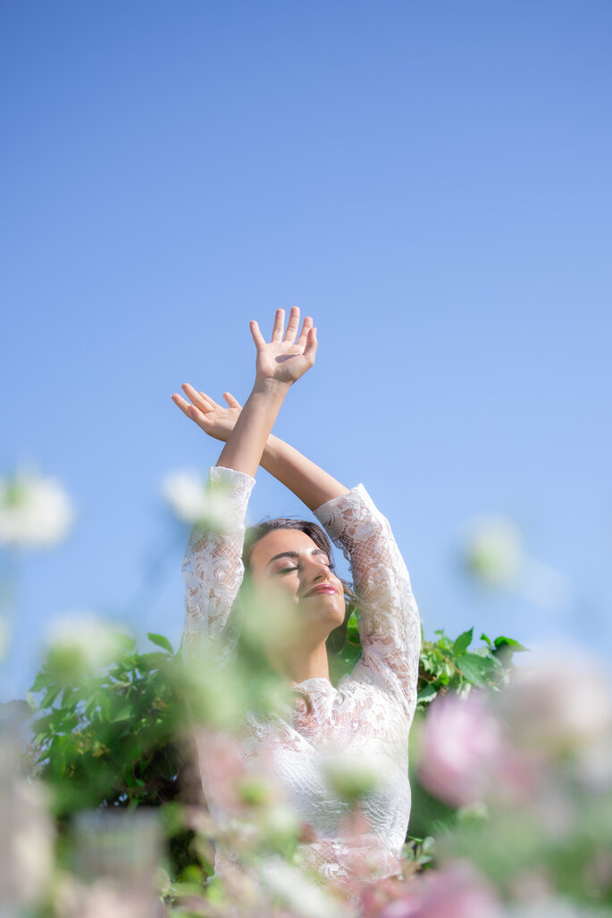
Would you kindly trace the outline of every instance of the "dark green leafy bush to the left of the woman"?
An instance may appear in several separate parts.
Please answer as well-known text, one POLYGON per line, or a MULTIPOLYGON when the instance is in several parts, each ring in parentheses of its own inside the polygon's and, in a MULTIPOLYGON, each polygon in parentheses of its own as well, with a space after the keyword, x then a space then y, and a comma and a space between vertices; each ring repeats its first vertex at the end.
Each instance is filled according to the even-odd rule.
POLYGON ((101 673, 67 673, 47 661, 37 675, 30 691, 42 698, 30 756, 54 789, 59 815, 156 806, 175 795, 176 657, 165 638, 150 638, 164 651, 139 654, 123 636, 101 673))

